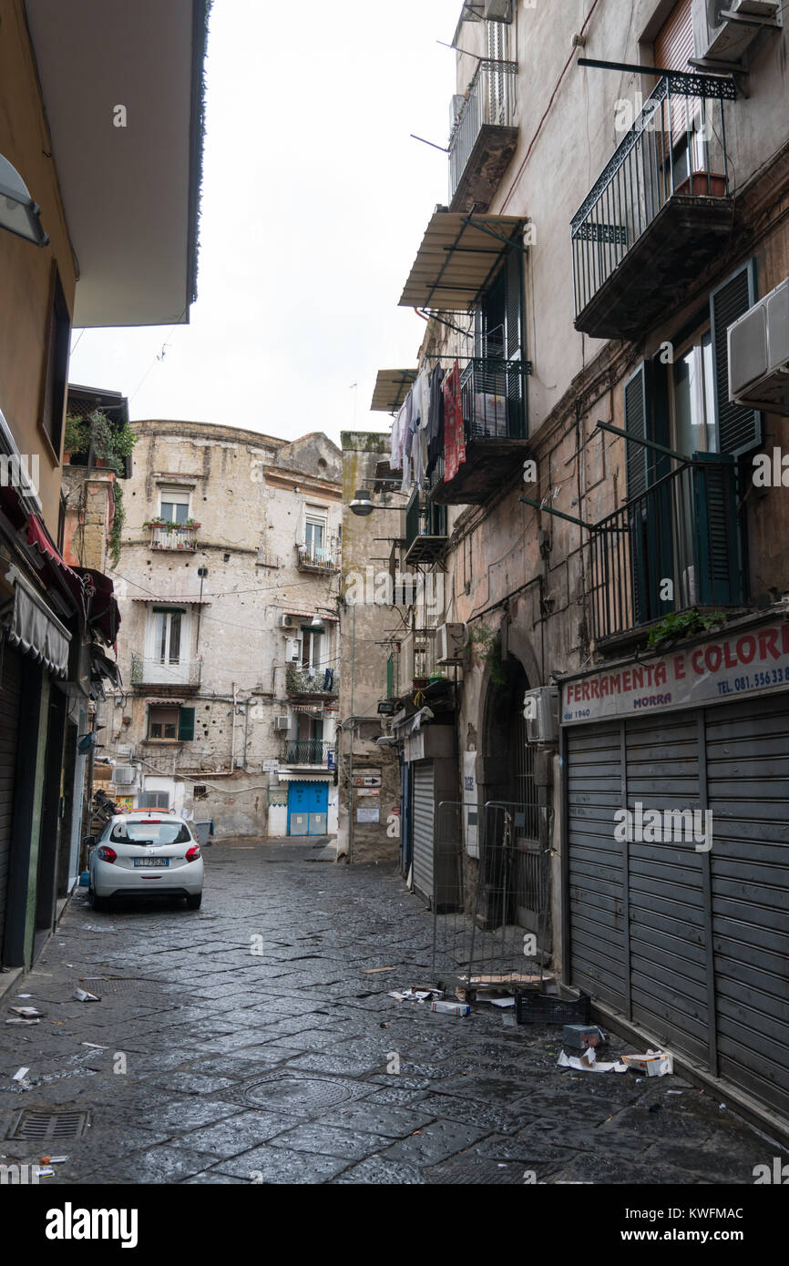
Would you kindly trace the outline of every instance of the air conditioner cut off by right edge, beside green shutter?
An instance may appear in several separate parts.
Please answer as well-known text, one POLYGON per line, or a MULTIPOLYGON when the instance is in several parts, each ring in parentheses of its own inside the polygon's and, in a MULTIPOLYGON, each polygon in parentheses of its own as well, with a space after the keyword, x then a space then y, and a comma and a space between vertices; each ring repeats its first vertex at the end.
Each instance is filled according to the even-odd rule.
POLYGON ((789 277, 729 325, 728 394, 789 417, 789 277))

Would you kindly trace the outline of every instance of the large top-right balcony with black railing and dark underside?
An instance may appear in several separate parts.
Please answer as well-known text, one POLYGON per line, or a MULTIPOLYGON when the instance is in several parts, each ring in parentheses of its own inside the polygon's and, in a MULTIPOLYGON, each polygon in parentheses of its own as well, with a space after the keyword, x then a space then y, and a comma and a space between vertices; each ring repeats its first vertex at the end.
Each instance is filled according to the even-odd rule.
POLYGON ((575 328, 638 339, 732 230, 724 100, 731 80, 670 75, 572 219, 575 328))

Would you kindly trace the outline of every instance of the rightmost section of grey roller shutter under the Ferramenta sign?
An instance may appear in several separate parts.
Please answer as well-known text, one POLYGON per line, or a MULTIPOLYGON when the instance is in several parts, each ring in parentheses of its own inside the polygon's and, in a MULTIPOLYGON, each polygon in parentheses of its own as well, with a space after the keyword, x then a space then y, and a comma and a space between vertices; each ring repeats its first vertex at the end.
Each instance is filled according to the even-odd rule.
POLYGON ((789 1117, 789 698, 709 709, 721 1075, 789 1117))

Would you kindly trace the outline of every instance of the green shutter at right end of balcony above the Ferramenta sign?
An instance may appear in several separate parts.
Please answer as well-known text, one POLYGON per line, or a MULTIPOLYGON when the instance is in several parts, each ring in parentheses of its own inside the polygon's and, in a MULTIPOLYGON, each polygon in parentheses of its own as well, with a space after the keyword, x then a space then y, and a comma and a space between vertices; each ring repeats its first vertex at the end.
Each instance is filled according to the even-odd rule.
POLYGON ((737 606, 743 592, 735 458, 694 453, 693 460, 697 601, 700 606, 737 606))

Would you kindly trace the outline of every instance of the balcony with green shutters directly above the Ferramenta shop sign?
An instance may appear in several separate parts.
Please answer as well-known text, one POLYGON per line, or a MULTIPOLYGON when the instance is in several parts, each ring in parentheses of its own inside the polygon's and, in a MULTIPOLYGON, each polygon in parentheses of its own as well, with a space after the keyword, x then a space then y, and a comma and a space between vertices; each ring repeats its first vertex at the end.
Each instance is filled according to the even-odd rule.
POLYGON ((742 606, 742 542, 732 457, 697 453, 591 533, 598 642, 691 609, 742 606), (661 598, 665 582, 674 596, 661 598))

